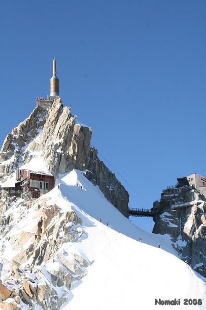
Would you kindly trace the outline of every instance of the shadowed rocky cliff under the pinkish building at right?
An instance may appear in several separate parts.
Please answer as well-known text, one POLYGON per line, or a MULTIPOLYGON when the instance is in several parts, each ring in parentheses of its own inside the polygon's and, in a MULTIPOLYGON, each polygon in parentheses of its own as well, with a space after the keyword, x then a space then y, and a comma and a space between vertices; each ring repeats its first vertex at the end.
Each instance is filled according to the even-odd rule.
MULTIPOLYGON (((188 186, 163 191, 153 233, 169 234, 179 257, 206 277, 206 202, 188 186)), ((154 204, 155 205, 155 204, 154 204)))

